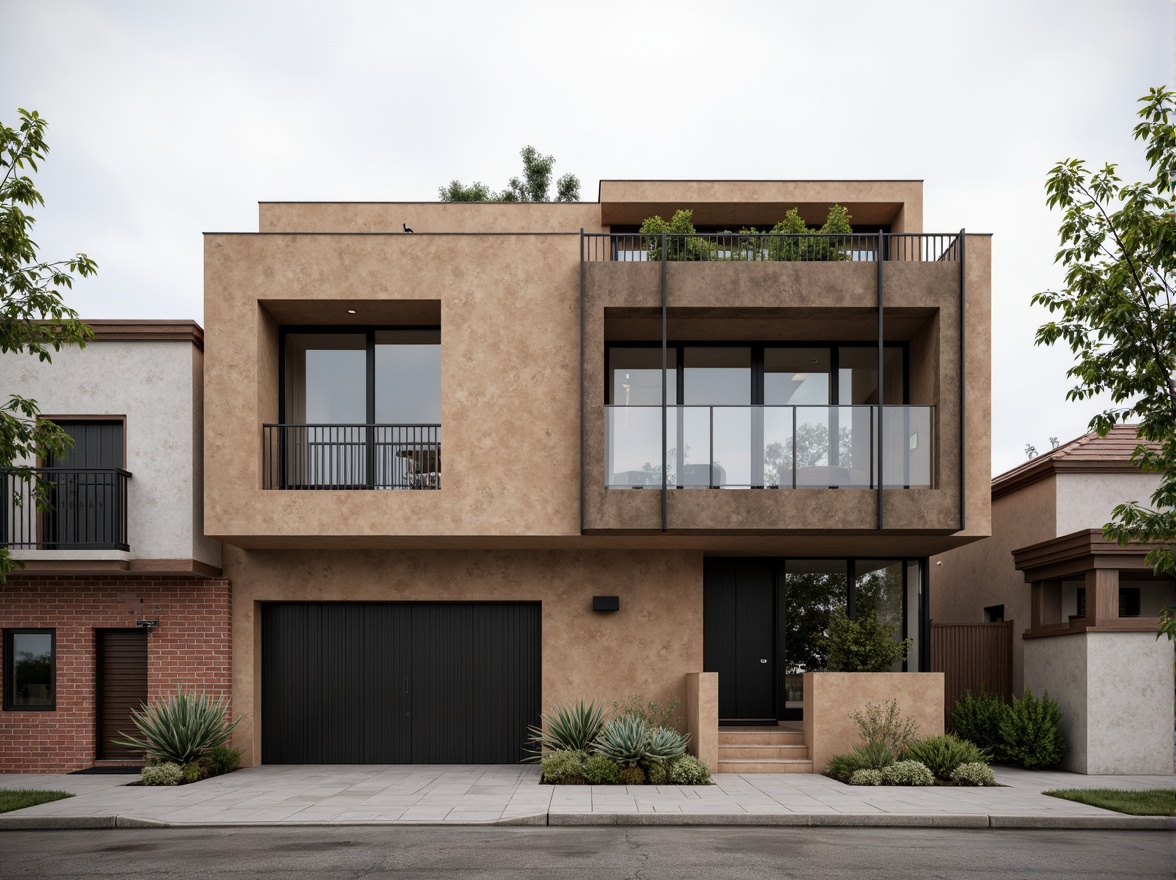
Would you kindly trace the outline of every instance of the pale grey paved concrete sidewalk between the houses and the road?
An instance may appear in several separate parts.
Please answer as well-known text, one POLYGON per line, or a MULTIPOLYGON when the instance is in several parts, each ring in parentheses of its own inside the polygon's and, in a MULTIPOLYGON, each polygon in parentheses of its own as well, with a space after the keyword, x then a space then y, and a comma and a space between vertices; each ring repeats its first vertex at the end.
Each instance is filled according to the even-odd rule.
POLYGON ((134 776, 0 774, 0 788, 76 796, 0 814, 11 828, 269 825, 843 825, 1176 827, 1048 798, 1051 788, 1164 788, 1172 776, 996 767, 996 788, 858 787, 815 774, 733 774, 709 786, 547 786, 535 766, 266 766, 188 786, 134 776))

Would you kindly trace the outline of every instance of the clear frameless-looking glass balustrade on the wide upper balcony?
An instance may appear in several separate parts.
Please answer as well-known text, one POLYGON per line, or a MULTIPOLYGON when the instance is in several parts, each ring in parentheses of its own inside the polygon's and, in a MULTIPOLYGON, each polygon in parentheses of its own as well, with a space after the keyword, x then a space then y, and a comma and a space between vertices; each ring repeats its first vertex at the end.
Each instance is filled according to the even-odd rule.
MULTIPOLYGON (((667 406, 668 488, 931 488, 934 407, 667 406)), ((604 407, 608 488, 662 486, 662 407, 604 407)))

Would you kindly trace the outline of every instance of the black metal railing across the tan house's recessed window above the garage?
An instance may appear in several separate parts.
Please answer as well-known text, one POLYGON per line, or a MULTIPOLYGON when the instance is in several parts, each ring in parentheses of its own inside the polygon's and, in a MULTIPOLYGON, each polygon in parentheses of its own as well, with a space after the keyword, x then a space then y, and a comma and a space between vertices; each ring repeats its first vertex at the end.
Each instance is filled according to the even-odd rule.
POLYGON ((439 489, 440 425, 263 425, 267 489, 439 489))

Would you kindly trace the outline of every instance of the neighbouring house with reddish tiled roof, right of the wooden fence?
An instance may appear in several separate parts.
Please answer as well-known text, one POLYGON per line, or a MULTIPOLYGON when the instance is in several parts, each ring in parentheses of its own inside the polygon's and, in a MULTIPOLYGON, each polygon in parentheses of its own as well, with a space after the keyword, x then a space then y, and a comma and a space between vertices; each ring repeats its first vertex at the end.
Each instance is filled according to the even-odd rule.
POLYGON ((1157 640, 1171 578, 1149 547, 1103 538, 1158 485, 1131 461, 1135 427, 1090 433, 991 481, 993 536, 933 560, 936 624, 1013 621, 1013 693, 1049 689, 1078 773, 1169 773, 1172 646, 1157 640))

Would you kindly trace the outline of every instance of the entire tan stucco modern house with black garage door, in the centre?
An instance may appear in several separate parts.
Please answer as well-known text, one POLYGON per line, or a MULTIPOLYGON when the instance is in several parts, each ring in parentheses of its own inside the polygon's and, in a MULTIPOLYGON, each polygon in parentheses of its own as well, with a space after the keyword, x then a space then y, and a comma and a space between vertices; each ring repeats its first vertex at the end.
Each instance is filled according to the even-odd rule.
POLYGON ((834 606, 928 668, 927 560, 989 533, 989 276, 918 181, 266 202, 207 234, 246 761, 513 761, 541 709, 634 693, 795 718, 834 606), (833 205, 854 234, 737 234, 833 205), (696 235, 637 234, 679 209, 696 235))

